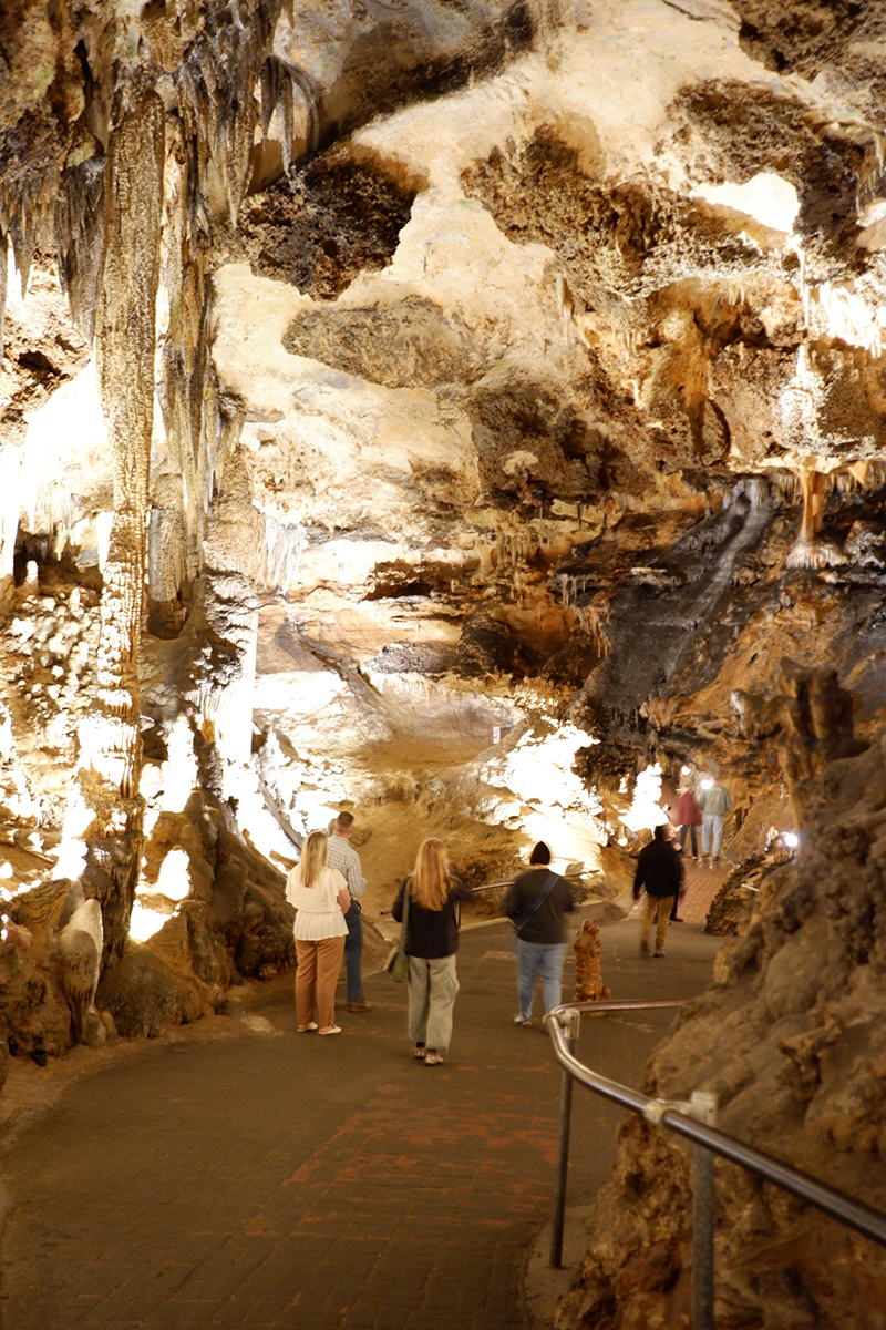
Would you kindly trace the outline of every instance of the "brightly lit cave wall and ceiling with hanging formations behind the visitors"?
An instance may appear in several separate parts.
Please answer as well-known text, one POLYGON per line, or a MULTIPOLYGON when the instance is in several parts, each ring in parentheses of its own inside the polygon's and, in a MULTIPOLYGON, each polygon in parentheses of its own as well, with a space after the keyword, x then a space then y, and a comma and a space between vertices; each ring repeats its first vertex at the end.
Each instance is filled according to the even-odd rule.
POLYGON ((17 1048, 290 966, 341 806, 369 959, 425 835, 619 899, 705 773, 743 880, 805 815, 802 878, 785 735, 834 684, 883 730, 886 16, 796 9, 4 9, 17 1048))

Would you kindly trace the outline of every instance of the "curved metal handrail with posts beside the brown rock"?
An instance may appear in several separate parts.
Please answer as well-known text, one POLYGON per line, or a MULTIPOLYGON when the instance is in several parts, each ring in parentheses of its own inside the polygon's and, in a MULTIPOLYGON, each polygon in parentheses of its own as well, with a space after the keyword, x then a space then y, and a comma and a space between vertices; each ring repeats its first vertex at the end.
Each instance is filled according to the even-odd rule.
POLYGON ((563 1218, 566 1213, 566 1174, 569 1170, 569 1136, 573 1081, 576 1080, 595 1095, 602 1095, 622 1108, 640 1113, 648 1123, 665 1127, 684 1136, 693 1145, 693 1262, 692 1262, 692 1326, 693 1330, 713 1330, 713 1156, 740 1164, 743 1168, 773 1182, 784 1192, 808 1201, 841 1224, 863 1233, 886 1246, 886 1214, 857 1201, 845 1192, 821 1182, 801 1169, 744 1145, 732 1136, 711 1125, 716 1111, 715 1096, 696 1093, 688 1103, 651 1099, 639 1091, 600 1076, 579 1063, 575 1055, 579 1016, 582 1012, 602 1015, 610 1011, 640 1011, 656 1007, 683 1007, 689 999, 622 999, 598 1003, 563 1003, 545 1016, 554 1045, 554 1053, 563 1068, 561 1096, 561 1130, 557 1169, 557 1196, 551 1228, 550 1264, 559 1266, 563 1256, 563 1218), (705 1121, 707 1119, 707 1121, 705 1121))

